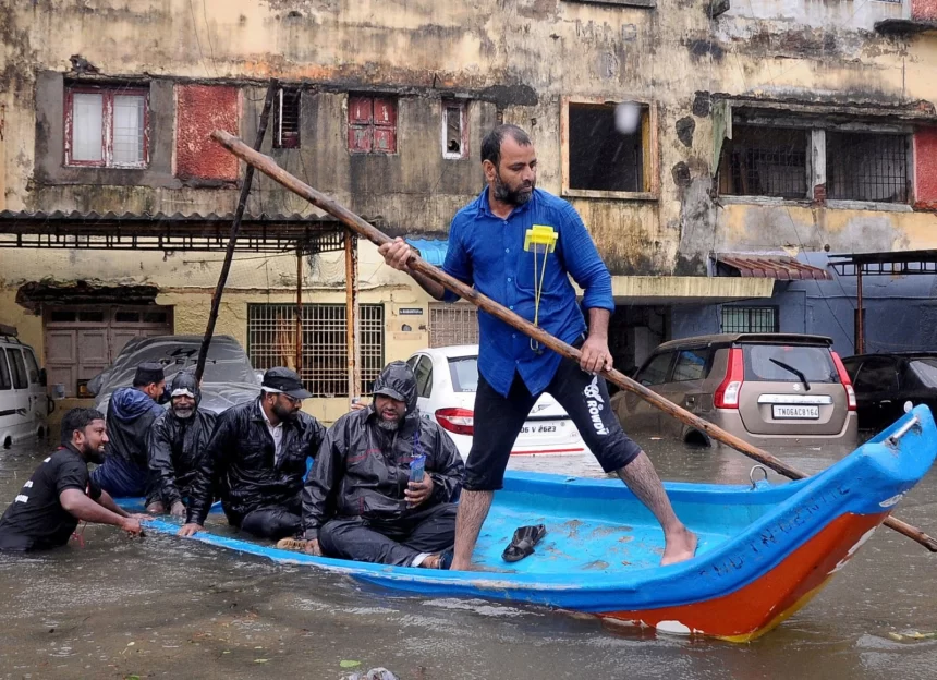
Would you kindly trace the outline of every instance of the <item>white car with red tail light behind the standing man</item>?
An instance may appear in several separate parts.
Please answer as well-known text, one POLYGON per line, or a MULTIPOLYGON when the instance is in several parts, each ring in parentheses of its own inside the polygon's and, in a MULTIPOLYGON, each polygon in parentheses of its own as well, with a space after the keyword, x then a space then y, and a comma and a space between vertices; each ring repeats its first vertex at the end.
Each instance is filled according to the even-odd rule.
MULTIPOLYGON (((421 414, 439 423, 455 442, 462 458, 467 458, 474 434, 478 345, 421 350, 406 363, 416 374, 421 414)), ((582 437, 567 412, 552 397, 543 394, 531 410, 511 454, 579 454, 585 451, 582 437)))

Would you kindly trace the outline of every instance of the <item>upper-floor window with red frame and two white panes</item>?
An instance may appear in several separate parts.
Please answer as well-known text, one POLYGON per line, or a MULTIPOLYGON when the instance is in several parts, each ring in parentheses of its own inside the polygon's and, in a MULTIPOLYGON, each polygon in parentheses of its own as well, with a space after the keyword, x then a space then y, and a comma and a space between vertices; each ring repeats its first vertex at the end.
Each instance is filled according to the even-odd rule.
POLYGON ((132 87, 65 90, 65 165, 145 168, 149 92, 132 87))

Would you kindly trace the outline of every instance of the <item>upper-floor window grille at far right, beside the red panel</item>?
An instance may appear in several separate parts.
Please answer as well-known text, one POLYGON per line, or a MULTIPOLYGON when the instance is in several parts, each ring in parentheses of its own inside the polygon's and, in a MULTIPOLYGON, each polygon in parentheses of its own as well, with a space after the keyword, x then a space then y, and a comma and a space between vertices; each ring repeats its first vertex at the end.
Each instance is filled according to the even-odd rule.
POLYGON ((908 137, 826 133, 827 198, 908 202, 908 137))

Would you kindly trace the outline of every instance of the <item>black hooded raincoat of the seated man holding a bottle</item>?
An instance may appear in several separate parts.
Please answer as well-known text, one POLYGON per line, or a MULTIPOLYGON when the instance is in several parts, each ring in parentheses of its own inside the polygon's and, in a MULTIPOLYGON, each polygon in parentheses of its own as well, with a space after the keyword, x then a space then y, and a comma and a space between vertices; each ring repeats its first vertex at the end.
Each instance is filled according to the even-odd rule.
POLYGON ((396 432, 381 429, 372 404, 341 416, 329 428, 303 489, 303 537, 318 538, 332 517, 361 517, 382 524, 453 502, 462 489, 462 458, 441 427, 419 417, 416 378, 403 362, 389 364, 375 381, 375 392, 389 387, 402 396, 406 416, 396 432), (426 456, 433 495, 417 508, 407 508, 403 491, 410 482, 410 462, 426 456))

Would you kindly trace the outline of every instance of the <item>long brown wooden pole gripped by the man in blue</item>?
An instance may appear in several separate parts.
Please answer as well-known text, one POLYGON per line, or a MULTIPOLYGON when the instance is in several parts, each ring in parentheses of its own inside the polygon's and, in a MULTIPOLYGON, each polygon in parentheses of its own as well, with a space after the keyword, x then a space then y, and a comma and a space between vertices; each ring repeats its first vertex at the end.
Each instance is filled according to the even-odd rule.
MULTIPOLYGON (((339 205, 325 194, 321 194, 312 186, 303 183, 302 181, 280 168, 269 156, 264 156, 263 154, 252 150, 251 147, 248 147, 238 137, 228 134, 222 130, 215 131, 212 133, 212 136, 232 154, 234 154, 245 162, 255 166, 260 172, 276 180, 277 182, 282 184, 290 191, 294 192, 299 196, 302 196, 313 205, 321 208, 329 215, 332 215, 343 224, 345 224, 350 229, 355 230, 358 234, 361 234, 368 241, 375 243, 376 245, 382 245, 391 241, 390 236, 376 229, 368 222, 364 221, 361 217, 358 217, 344 206, 339 205)), ((524 332, 534 340, 537 340, 544 347, 551 349, 557 354, 560 354, 561 356, 565 356, 568 359, 572 359, 576 362, 580 361, 580 351, 576 350, 574 347, 555 338, 553 336, 545 331, 543 328, 534 326, 525 318, 518 316, 516 314, 501 306, 490 298, 486 298, 473 288, 465 286, 459 279, 455 279, 446 274, 445 271, 437 269, 423 258, 414 255, 410 259, 410 268, 413 271, 418 271, 434 279, 435 281, 438 281, 452 292, 475 304, 475 306, 477 306, 479 309, 483 309, 491 316, 501 319, 506 324, 513 326, 514 328, 524 332)), ((614 368, 612 368, 611 371, 603 371, 601 375, 609 382, 619 386, 621 389, 634 392, 656 409, 664 411, 668 415, 672 415, 677 420, 690 425, 691 427, 695 427, 699 432, 706 433, 713 439, 716 439, 717 441, 721 441, 722 444, 732 447, 733 449, 744 453, 752 460, 757 461, 762 465, 770 467, 778 474, 781 474, 791 479, 802 479, 807 476, 806 473, 791 467, 790 465, 775 458, 767 451, 763 451, 762 449, 752 446, 747 441, 744 441, 739 437, 717 427, 713 423, 704 421, 703 418, 690 413, 689 411, 681 409, 677 404, 666 400, 657 392, 654 392, 644 387, 643 385, 635 382, 634 380, 614 368)), ((885 525, 908 536, 909 538, 912 538, 913 541, 916 541, 932 552, 937 552, 937 541, 923 533, 921 530, 911 526, 910 524, 905 524, 900 520, 896 520, 895 518, 886 519, 885 525)))

